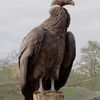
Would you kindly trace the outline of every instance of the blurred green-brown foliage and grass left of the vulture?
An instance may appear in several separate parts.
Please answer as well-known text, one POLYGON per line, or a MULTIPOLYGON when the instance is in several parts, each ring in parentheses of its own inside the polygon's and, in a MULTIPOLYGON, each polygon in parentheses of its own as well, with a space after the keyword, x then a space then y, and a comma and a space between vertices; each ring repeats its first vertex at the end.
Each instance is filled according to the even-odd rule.
POLYGON ((0 100, 22 100, 17 64, 0 67, 0 100))

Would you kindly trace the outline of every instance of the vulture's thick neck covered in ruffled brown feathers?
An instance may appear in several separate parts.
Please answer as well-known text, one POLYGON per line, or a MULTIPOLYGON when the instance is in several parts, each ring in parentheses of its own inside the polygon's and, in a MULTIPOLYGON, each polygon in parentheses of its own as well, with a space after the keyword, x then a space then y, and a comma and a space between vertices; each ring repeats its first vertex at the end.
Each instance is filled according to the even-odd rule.
POLYGON ((67 14, 62 7, 51 8, 50 17, 41 25, 52 34, 63 33, 66 30, 67 14))

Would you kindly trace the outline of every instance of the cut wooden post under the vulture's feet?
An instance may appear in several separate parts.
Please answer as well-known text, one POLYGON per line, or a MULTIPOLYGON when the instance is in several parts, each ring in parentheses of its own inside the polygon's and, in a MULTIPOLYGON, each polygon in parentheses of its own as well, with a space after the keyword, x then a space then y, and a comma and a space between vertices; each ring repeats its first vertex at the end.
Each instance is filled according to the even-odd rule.
POLYGON ((64 100, 64 94, 60 91, 37 91, 33 94, 33 98, 34 100, 64 100))

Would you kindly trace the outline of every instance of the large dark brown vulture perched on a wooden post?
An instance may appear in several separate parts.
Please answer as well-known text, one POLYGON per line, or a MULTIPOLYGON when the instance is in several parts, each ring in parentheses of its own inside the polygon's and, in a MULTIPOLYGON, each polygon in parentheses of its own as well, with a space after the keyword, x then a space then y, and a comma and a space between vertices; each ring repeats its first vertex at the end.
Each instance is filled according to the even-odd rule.
MULTIPOLYGON (((75 39, 67 32, 70 15, 62 7, 65 4, 55 4, 52 3, 50 17, 27 34, 20 47, 19 67, 25 100, 33 100, 34 91, 55 91, 64 86, 75 59, 75 39)), ((68 4, 72 5, 72 0, 68 4)))

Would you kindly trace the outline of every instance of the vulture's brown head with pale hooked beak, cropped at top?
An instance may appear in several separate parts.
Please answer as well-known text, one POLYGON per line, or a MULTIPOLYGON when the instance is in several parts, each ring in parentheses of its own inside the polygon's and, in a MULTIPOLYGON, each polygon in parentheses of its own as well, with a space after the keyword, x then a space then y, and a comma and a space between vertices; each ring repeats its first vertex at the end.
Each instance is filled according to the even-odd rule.
POLYGON ((51 6, 53 5, 60 5, 60 6, 75 5, 75 2, 73 0, 53 0, 51 6))

